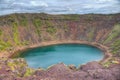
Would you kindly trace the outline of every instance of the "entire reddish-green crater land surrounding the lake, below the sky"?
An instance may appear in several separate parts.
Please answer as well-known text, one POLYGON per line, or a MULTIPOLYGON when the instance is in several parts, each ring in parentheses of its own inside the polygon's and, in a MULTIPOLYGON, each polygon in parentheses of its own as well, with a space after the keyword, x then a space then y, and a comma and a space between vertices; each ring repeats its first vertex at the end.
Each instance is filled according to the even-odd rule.
MULTIPOLYGON (((16 65, 7 63, 16 60, 1 58, 0 79, 14 80, 18 77, 20 80, 24 79, 25 75, 31 75, 25 80, 108 80, 108 78, 120 80, 120 14, 48 15, 41 13, 11 14, 0 17, 0 57, 8 58, 21 48, 40 46, 41 43, 50 41, 95 42, 108 47, 112 57, 103 64, 91 62, 76 69, 74 66, 66 67, 61 63, 45 71, 42 69, 34 71, 28 68, 27 64, 22 65, 24 68, 16 69, 16 65), (26 73, 27 69, 28 73, 26 73), (23 73, 19 76, 15 75, 16 72, 23 73)), ((15 64, 24 64, 25 61, 22 61, 18 60, 15 64)))

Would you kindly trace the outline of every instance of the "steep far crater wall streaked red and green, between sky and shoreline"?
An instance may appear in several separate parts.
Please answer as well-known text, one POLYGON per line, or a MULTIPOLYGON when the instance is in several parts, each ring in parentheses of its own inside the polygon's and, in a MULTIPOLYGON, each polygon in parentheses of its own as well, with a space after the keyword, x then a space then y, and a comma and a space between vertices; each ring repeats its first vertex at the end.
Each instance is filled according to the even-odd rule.
POLYGON ((0 51, 41 42, 98 42, 120 56, 120 14, 12 14, 0 17, 0 51))

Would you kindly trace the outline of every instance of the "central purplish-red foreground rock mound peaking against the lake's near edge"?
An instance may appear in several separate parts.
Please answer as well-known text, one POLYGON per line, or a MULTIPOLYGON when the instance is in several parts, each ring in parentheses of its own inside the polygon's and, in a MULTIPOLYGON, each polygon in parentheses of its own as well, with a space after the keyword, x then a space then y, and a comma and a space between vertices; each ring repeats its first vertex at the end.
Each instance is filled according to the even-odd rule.
POLYGON ((60 63, 53 65, 46 71, 36 71, 35 75, 42 78, 51 77, 60 80, 61 78, 69 77, 69 73, 72 73, 71 69, 69 69, 65 64, 60 63))

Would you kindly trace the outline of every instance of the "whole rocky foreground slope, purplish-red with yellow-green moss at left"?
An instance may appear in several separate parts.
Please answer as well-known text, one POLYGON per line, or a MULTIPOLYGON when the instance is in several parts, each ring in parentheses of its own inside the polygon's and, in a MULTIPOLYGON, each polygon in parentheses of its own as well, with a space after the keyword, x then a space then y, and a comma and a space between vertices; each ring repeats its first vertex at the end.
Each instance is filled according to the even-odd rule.
POLYGON ((0 59, 0 80, 120 80, 120 64, 103 67, 90 62, 76 68, 59 63, 44 69, 28 68, 23 59, 0 59))

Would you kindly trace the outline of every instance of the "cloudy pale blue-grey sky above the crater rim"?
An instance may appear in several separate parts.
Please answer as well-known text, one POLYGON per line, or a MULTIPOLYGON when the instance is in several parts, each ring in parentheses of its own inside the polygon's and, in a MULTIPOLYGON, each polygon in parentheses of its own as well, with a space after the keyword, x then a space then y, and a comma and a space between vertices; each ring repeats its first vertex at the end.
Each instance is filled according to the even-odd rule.
POLYGON ((113 14, 120 0, 0 0, 0 15, 11 13, 113 14))

